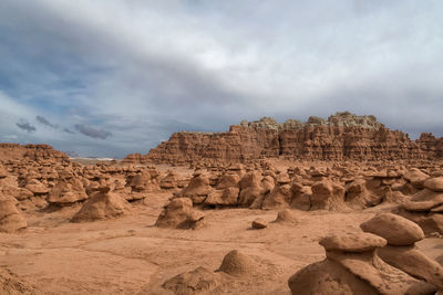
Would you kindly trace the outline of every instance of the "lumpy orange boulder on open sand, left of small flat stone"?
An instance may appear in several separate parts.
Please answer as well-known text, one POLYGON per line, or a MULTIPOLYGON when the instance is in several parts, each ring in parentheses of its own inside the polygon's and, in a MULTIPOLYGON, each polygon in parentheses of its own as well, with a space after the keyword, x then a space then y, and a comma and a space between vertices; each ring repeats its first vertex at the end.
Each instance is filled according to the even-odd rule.
POLYGON ((202 212, 193 211, 193 201, 189 198, 173 199, 158 215, 155 223, 158 228, 196 229, 204 221, 202 212))

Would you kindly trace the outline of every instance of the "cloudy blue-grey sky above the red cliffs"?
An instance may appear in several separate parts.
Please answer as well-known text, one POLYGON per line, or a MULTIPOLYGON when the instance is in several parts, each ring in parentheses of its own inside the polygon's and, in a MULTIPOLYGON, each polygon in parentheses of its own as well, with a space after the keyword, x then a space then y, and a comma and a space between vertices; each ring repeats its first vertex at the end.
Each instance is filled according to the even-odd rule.
POLYGON ((146 154, 241 119, 443 136, 441 0, 0 0, 0 143, 146 154))

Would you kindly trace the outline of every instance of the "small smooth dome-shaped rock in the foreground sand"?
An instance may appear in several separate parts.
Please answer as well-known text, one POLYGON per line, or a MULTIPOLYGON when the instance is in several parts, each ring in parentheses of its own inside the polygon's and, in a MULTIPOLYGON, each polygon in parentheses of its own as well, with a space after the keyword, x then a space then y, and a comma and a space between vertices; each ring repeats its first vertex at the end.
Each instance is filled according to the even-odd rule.
POLYGON ((245 276, 256 273, 258 268, 259 264, 255 260, 233 250, 225 255, 218 271, 234 276, 245 276))

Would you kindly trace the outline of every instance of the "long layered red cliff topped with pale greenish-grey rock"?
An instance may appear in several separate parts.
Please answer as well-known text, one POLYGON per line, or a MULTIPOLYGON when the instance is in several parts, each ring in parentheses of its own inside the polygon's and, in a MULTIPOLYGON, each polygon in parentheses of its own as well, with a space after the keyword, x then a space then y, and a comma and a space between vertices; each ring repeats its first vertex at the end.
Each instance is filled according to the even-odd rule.
POLYGON ((307 160, 433 159, 443 156, 443 139, 423 134, 413 141, 390 130, 374 116, 337 113, 327 120, 278 124, 265 117, 241 122, 227 133, 175 133, 147 155, 130 155, 126 161, 187 162, 202 159, 245 161, 286 157, 307 160))

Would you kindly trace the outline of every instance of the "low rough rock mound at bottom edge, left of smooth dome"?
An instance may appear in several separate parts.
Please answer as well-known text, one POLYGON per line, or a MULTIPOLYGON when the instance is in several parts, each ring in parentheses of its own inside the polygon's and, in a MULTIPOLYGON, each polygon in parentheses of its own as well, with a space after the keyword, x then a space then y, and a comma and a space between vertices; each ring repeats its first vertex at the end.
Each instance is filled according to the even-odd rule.
POLYGON ((209 294, 220 282, 222 276, 219 273, 199 266, 194 271, 167 280, 163 283, 162 287, 181 295, 209 294))

